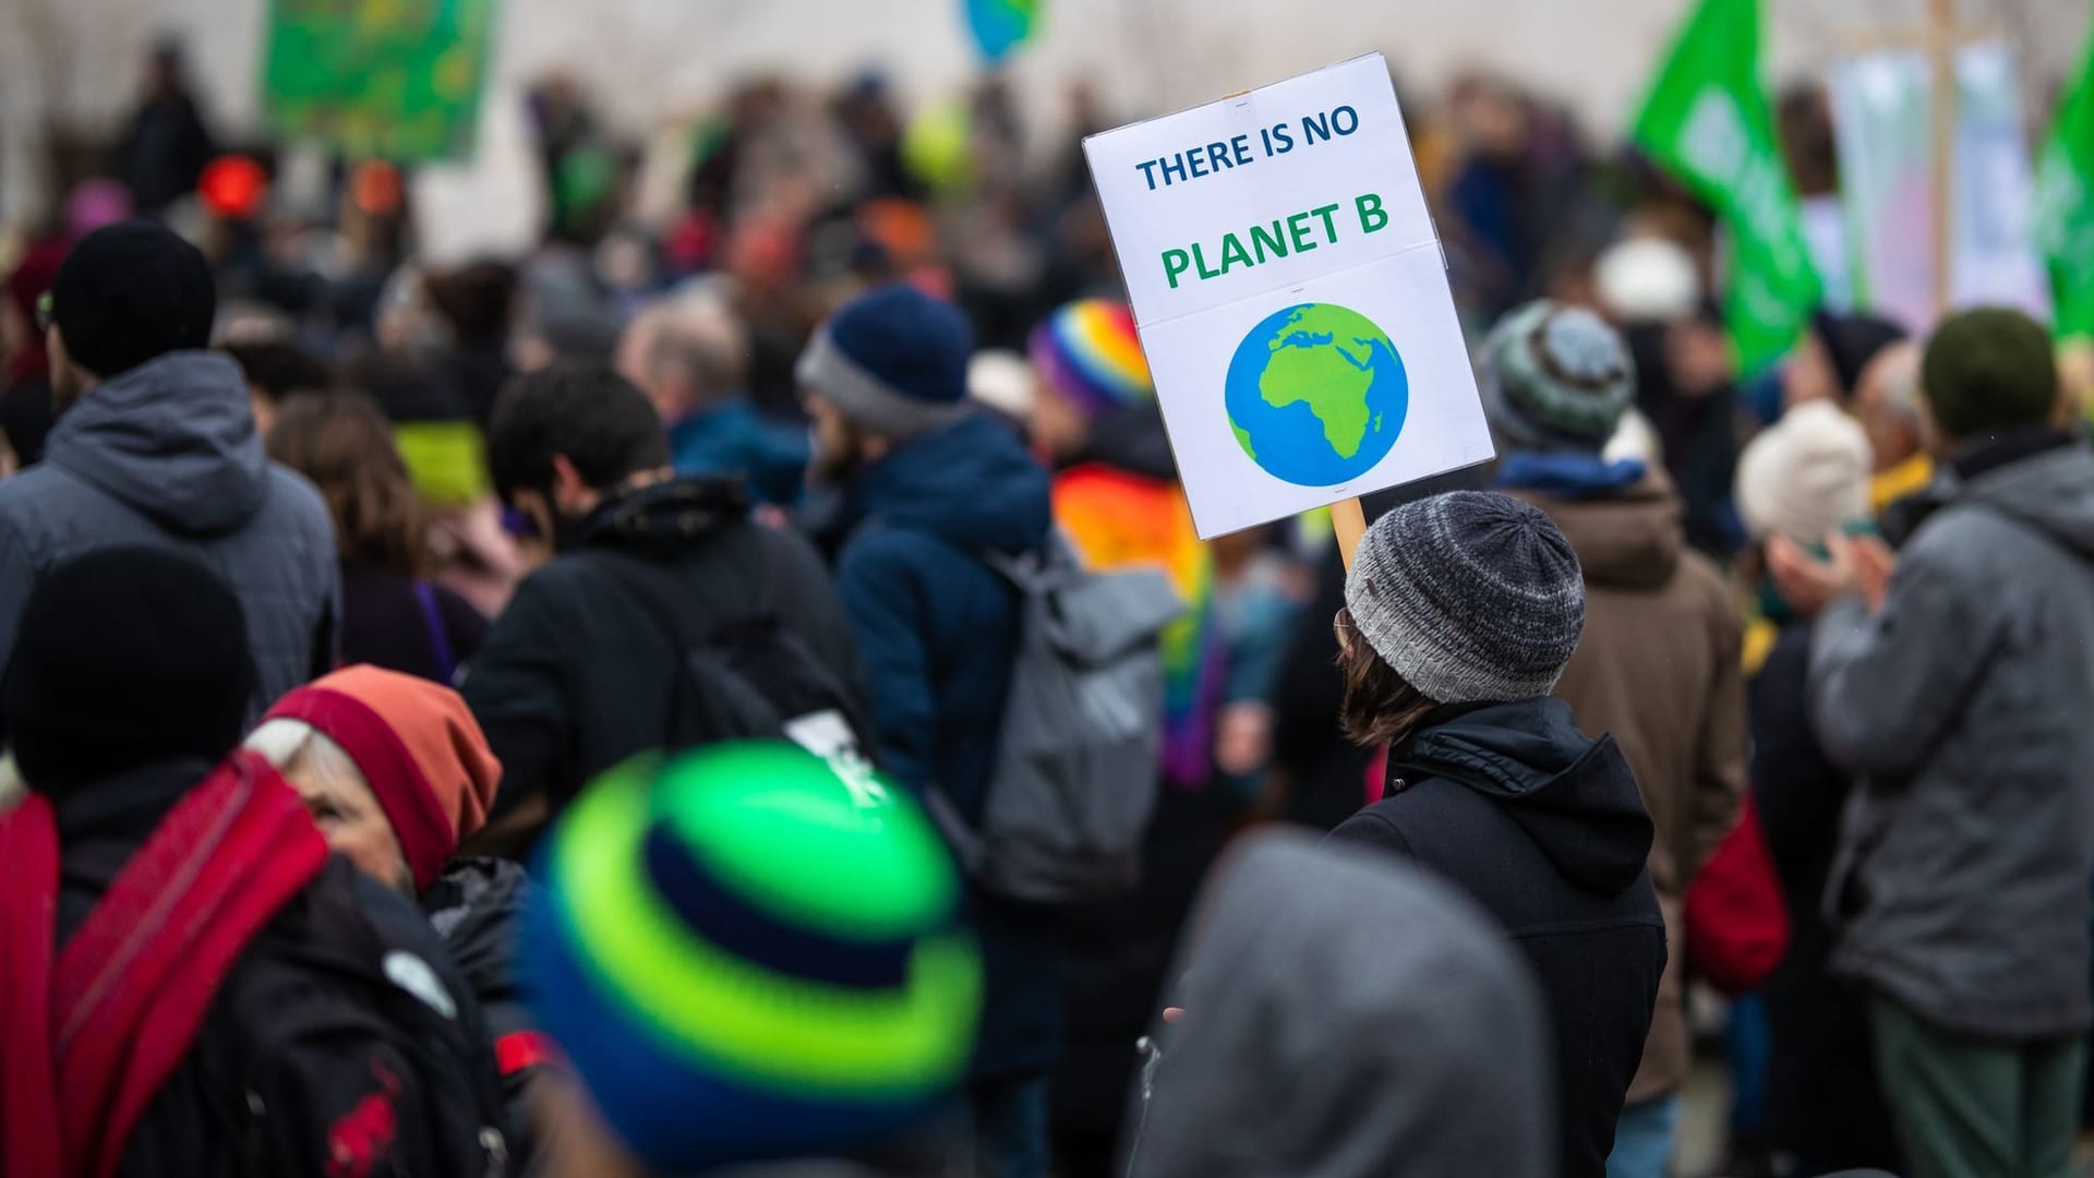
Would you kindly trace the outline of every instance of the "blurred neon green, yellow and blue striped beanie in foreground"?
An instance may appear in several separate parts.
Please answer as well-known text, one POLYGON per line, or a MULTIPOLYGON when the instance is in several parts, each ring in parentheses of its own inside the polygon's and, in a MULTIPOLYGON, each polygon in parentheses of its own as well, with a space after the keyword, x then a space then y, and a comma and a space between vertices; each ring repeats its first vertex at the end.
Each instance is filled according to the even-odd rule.
POLYGON ((639 757, 540 855, 532 1015, 645 1165, 844 1149, 965 1075, 982 973, 959 876, 871 773, 781 742, 639 757))

